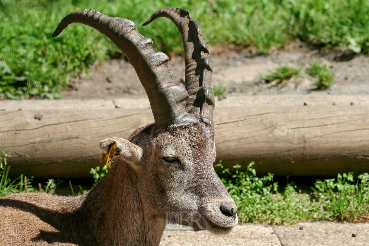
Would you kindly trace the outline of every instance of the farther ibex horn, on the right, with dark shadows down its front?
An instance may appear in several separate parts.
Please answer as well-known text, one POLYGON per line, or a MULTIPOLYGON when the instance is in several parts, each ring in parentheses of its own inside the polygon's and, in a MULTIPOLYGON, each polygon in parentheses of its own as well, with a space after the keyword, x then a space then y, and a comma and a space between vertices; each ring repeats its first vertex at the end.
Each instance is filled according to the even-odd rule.
POLYGON ((182 34, 186 65, 186 101, 190 114, 200 117, 206 124, 213 125, 214 92, 211 89, 213 65, 208 57, 209 49, 204 42, 201 28, 183 8, 163 8, 156 11, 144 24, 148 25, 159 17, 172 20, 182 34))

